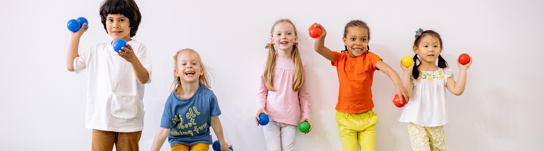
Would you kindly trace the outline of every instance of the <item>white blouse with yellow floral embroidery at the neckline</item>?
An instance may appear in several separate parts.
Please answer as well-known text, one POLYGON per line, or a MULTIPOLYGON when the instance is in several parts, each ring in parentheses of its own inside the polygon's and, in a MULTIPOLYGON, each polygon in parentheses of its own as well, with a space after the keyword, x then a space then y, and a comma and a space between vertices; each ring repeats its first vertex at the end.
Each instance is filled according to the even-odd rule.
POLYGON ((400 122, 409 122, 423 127, 438 127, 448 123, 446 104, 446 81, 452 76, 450 68, 437 71, 419 70, 419 77, 413 79, 412 97, 404 106, 400 122))

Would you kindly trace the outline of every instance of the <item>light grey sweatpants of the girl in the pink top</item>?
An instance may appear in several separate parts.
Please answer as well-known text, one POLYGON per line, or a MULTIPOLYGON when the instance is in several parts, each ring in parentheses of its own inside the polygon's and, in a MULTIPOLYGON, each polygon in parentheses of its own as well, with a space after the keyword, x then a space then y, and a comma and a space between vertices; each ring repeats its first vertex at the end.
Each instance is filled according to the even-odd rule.
POLYGON ((295 125, 270 121, 264 125, 264 140, 268 151, 293 151, 295 149, 295 125))

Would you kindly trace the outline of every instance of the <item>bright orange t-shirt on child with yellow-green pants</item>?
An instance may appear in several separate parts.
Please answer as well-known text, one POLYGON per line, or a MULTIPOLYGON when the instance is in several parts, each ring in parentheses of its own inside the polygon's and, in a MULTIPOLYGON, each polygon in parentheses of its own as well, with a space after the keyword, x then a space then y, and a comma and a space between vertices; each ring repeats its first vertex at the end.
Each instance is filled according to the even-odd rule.
POLYGON ((372 78, 376 62, 380 56, 372 52, 364 52, 361 56, 351 58, 348 51, 334 52, 338 81, 338 103, 336 110, 348 114, 358 114, 374 108, 372 102, 372 78))

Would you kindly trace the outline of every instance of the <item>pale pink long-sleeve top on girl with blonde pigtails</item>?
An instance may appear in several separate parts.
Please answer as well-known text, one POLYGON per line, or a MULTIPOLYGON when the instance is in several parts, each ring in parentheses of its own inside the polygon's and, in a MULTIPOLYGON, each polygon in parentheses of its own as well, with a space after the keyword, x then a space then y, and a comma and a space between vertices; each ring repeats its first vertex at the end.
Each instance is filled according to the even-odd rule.
POLYGON ((301 116, 310 119, 310 93, 306 87, 306 63, 302 61, 304 81, 299 91, 293 91, 293 77, 296 72, 293 60, 276 57, 273 83, 276 91, 268 91, 267 85, 264 83, 266 64, 267 60, 264 60, 261 68, 261 84, 257 93, 257 110, 266 110, 271 121, 291 125, 298 125, 301 116))

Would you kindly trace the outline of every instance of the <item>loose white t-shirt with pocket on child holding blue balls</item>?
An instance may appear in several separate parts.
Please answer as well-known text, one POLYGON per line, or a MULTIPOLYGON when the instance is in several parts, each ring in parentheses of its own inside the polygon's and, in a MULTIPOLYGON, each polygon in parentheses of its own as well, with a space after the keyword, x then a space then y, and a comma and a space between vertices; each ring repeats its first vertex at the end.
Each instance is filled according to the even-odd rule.
MULTIPOLYGON (((89 75, 85 128, 141 131, 144 128, 144 84, 138 82, 132 65, 118 56, 110 43, 98 43, 73 62, 77 74, 86 68, 89 75)), ((149 73, 147 83, 151 83, 151 58, 147 48, 136 40, 127 43, 149 73)))

